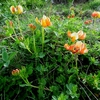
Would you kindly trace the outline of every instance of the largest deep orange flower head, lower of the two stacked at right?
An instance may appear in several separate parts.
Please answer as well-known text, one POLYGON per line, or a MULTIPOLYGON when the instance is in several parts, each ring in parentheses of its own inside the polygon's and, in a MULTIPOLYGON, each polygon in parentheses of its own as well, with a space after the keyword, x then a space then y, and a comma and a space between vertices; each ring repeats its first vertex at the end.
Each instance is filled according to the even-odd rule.
POLYGON ((71 51, 73 54, 85 54, 88 52, 86 45, 81 41, 77 41, 75 44, 72 44, 70 46, 68 44, 65 44, 64 48, 71 51))

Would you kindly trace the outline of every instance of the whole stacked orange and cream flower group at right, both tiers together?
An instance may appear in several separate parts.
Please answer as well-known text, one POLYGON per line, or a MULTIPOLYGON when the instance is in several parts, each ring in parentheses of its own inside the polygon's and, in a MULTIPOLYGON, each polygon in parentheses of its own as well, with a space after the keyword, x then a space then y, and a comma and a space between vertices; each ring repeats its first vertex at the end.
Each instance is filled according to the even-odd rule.
MULTIPOLYGON (((77 33, 71 33, 70 31, 68 31, 67 35, 71 38, 72 42, 75 42, 75 40, 78 39, 84 40, 86 38, 86 33, 84 33, 82 30, 78 31, 77 33)), ((65 44, 64 48, 68 51, 71 51, 73 54, 84 54, 88 52, 86 45, 82 43, 82 41, 76 41, 72 45, 65 44)))

